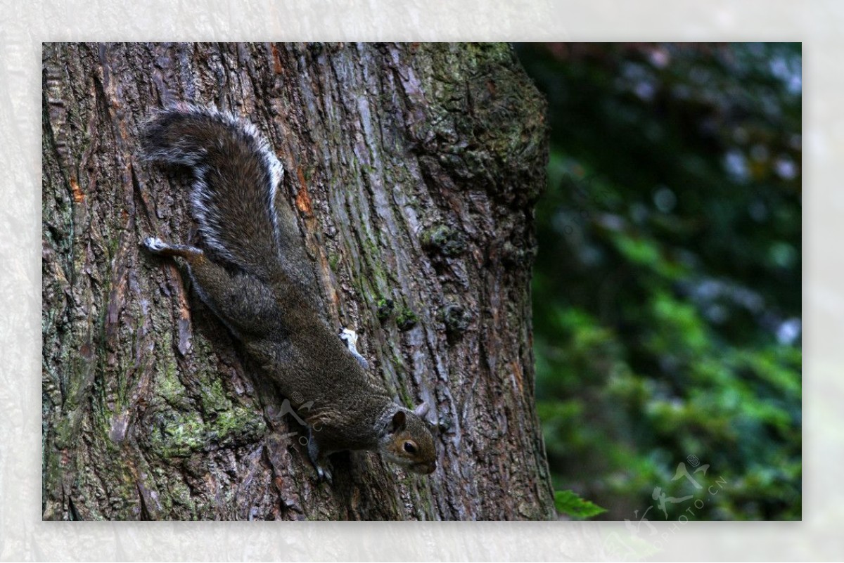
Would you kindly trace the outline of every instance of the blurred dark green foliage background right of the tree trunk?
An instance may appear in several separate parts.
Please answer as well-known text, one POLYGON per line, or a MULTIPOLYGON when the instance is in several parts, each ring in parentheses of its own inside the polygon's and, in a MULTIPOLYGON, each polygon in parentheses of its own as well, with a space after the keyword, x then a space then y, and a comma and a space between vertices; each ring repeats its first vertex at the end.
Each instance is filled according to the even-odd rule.
POLYGON ((640 527, 799 519, 800 45, 517 51, 549 100, 533 310, 555 488, 640 527))

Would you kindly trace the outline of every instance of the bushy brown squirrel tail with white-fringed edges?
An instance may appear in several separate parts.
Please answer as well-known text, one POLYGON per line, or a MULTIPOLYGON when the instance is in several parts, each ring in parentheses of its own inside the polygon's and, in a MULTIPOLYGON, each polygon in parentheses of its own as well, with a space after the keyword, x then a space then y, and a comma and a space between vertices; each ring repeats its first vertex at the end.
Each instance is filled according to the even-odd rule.
POLYGON ((255 126, 195 105, 153 115, 141 132, 141 155, 192 170, 193 215, 209 249, 257 276, 278 263, 275 197, 283 169, 255 126))

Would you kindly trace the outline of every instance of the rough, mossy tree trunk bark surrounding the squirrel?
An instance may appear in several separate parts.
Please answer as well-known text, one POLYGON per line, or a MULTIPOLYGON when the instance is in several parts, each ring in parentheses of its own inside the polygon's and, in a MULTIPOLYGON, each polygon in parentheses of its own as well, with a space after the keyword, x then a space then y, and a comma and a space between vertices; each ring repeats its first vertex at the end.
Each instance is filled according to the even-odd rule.
POLYGON ((529 292, 544 102, 510 47, 47 44, 43 78, 43 517, 555 516, 529 292), (283 398, 139 249, 192 236, 187 180, 136 153, 181 99, 269 138, 327 318, 435 407, 435 474, 340 453, 317 484, 283 398))

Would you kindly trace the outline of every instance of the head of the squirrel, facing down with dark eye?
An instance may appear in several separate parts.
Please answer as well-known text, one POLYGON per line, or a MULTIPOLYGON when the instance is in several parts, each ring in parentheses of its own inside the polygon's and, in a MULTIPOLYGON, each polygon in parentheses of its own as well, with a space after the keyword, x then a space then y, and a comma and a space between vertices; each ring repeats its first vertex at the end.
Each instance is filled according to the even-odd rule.
POLYGON ((416 410, 399 407, 387 422, 379 448, 393 464, 423 475, 436 469, 434 436, 423 418, 427 411, 425 403, 416 410))

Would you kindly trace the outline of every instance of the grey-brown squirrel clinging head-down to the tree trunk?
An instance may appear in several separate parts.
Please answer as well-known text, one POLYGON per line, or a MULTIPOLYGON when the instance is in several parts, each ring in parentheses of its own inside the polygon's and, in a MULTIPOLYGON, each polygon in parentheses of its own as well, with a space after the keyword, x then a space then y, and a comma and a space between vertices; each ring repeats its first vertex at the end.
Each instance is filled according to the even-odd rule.
POLYGON ((223 111, 177 104, 142 126, 140 156, 191 172, 202 245, 149 237, 143 246, 184 260, 197 294, 246 355, 285 397, 310 407, 300 406, 300 416, 318 480, 332 481, 327 457, 343 450, 378 451, 414 473, 432 473, 427 405, 396 404, 367 376, 354 332, 338 338, 323 322, 292 212, 276 206, 283 168, 257 128, 223 111))

